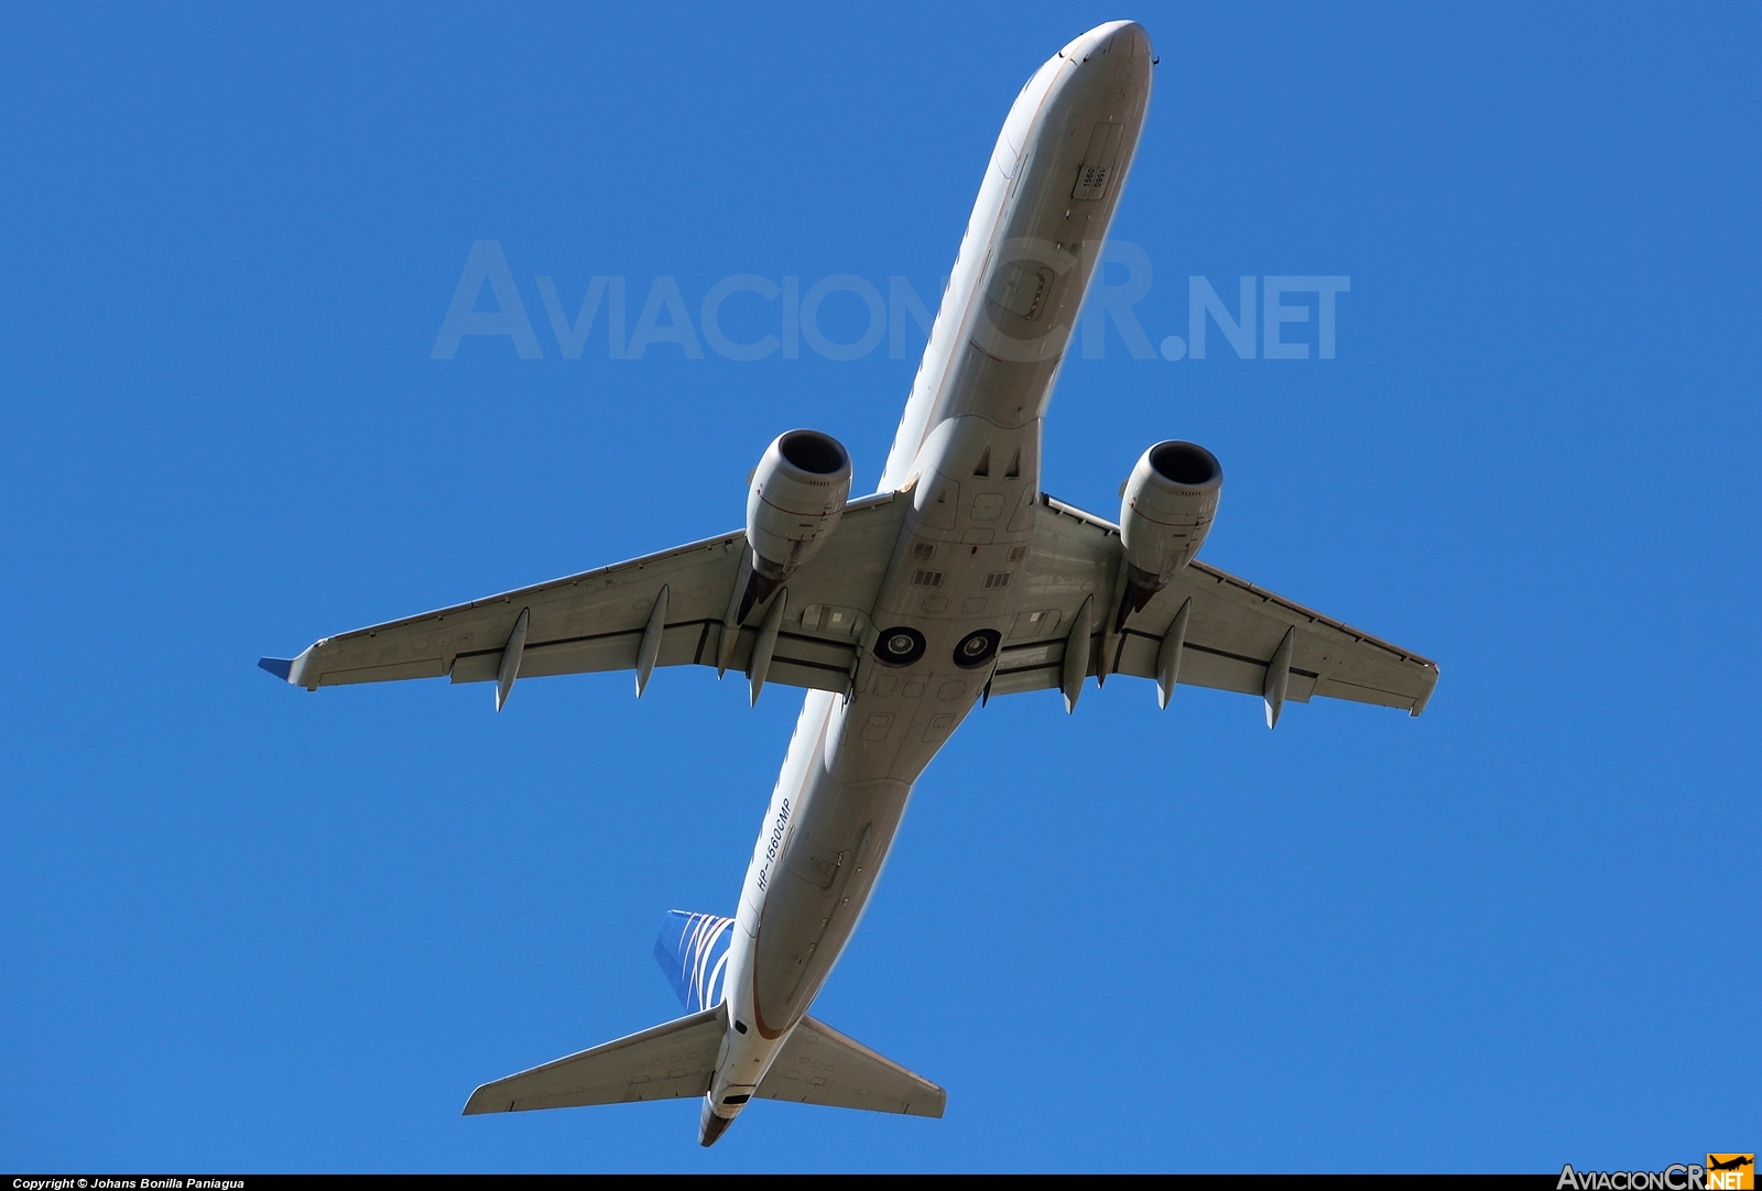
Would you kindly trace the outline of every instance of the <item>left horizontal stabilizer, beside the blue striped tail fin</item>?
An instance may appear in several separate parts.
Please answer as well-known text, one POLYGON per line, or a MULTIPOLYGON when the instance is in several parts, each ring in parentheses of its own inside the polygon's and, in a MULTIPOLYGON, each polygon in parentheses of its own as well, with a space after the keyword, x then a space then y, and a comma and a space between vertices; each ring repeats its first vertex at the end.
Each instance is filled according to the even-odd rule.
POLYGON ((465 1101, 465 1115, 703 1096, 715 1075, 724 1029, 721 1008, 692 1013, 485 1084, 465 1101))

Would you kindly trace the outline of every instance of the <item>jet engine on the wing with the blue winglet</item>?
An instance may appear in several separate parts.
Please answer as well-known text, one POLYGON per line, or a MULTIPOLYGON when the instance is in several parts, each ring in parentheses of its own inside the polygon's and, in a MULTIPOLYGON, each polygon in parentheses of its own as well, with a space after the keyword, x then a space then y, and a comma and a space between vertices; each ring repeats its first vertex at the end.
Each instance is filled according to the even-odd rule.
POLYGON ((832 435, 789 430, 765 448, 747 492, 752 580, 740 620, 826 543, 851 495, 851 456, 832 435))

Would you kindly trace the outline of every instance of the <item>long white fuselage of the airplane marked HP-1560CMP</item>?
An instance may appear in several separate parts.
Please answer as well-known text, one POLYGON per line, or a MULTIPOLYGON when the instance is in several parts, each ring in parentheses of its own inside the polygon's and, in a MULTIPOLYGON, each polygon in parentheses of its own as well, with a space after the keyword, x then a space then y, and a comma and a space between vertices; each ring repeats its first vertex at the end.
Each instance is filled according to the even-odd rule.
POLYGON ((881 492, 911 500, 870 613, 927 648, 863 657, 849 694, 811 691, 740 891, 728 1034, 708 1106, 733 1117, 837 962, 913 782, 973 708, 1006 634, 1040 486, 1047 398, 1151 95, 1151 44, 1091 30, 1022 88, 985 169, 881 492), (1098 174, 1103 171, 1103 174, 1098 174), (735 1098, 737 1103, 726 1103, 735 1098))

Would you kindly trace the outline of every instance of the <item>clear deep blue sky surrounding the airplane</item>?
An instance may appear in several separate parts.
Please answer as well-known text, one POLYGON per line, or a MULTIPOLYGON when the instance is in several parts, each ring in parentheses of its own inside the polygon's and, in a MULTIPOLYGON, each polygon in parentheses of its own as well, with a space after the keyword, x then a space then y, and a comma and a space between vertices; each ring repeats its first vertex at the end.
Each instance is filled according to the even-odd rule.
MULTIPOLYGON (((1758 35, 1737 5, 9 9, 0 1166, 1753 1147, 1758 35), (1147 444, 1203 442, 1203 557, 1438 659, 1427 714, 1267 733, 1122 680, 969 719, 816 1008, 944 1121, 759 1103, 705 1152, 696 1103, 460 1119, 678 1011, 654 932, 731 911, 798 698, 670 669, 493 715, 257 655, 731 529, 789 426, 872 485, 916 324, 897 359, 610 359, 597 329, 567 359, 536 278, 573 314, 624 277, 633 324, 659 277, 692 319, 735 273, 934 307, 1022 81, 1117 16, 1161 55, 1114 226, 1149 340, 1189 277, 1232 308, 1244 275, 1351 289, 1327 361, 1110 328, 1045 488, 1112 516, 1147 444), (432 358, 479 240, 541 358, 432 358)), ((821 307, 837 342, 865 321, 821 307)))

